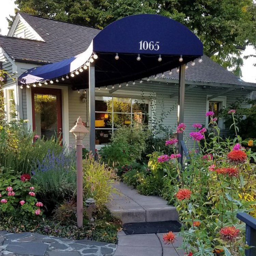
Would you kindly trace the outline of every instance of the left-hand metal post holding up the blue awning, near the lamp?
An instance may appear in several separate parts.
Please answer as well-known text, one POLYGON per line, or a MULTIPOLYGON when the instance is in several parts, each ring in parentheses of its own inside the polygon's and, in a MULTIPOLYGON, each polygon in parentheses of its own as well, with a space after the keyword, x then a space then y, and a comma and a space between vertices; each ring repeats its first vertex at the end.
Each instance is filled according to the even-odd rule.
POLYGON ((95 66, 89 66, 90 151, 95 157, 95 66))

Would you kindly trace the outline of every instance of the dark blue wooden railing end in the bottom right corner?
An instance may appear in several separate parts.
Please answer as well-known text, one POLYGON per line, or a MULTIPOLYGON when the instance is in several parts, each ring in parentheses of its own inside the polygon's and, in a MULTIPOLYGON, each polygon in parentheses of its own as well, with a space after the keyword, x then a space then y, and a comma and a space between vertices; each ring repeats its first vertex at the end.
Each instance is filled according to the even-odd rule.
POLYGON ((251 215, 242 212, 237 214, 242 222, 246 224, 245 226, 245 241, 249 246, 255 246, 248 250, 245 250, 246 256, 256 256, 256 219, 251 215))

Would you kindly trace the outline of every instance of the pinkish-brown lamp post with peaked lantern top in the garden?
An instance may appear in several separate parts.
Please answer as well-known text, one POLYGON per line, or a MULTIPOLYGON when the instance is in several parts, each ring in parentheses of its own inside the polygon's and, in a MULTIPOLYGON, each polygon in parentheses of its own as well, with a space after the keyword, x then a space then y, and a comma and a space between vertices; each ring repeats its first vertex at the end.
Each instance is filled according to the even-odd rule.
POLYGON ((82 159, 82 141, 85 134, 89 131, 83 125, 82 118, 77 118, 75 126, 69 131, 75 136, 76 141, 76 212, 77 212, 77 226, 83 227, 83 159, 82 159))

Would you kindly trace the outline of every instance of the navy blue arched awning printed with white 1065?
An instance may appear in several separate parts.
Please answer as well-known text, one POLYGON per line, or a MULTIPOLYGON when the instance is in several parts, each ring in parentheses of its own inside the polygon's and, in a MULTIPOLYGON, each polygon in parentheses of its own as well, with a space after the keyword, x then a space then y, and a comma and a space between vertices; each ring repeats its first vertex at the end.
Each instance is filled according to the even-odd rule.
POLYGON ((61 83, 71 84, 73 89, 87 88, 86 62, 91 59, 95 61, 96 86, 106 86, 165 72, 202 55, 201 41, 184 25, 160 15, 137 14, 105 27, 85 52, 30 69, 19 76, 18 83, 55 83, 62 79, 61 83), (97 59, 92 57, 96 55, 97 59))

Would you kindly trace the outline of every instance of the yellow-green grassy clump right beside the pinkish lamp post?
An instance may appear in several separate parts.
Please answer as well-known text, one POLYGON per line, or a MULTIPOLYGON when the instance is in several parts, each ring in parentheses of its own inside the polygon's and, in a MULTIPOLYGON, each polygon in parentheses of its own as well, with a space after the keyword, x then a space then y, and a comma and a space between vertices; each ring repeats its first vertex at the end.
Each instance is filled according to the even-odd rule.
POLYGON ((112 186, 115 177, 113 169, 88 156, 83 161, 83 173, 85 198, 94 198, 97 208, 103 209, 104 204, 111 199, 112 193, 116 192, 112 186))

